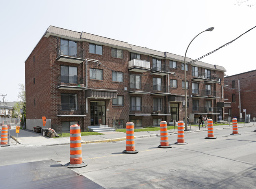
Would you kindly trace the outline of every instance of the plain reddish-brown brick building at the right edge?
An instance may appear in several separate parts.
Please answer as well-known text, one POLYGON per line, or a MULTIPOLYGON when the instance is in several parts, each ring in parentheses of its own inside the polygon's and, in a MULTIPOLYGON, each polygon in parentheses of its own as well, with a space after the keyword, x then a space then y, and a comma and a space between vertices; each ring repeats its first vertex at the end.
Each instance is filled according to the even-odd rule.
POLYGON ((243 109, 246 109, 246 114, 250 114, 250 119, 256 117, 256 104, 253 97, 256 92, 255 81, 256 70, 224 78, 224 97, 231 104, 229 108, 225 108, 225 117, 240 119, 240 113, 242 113, 241 118, 244 120, 243 109))

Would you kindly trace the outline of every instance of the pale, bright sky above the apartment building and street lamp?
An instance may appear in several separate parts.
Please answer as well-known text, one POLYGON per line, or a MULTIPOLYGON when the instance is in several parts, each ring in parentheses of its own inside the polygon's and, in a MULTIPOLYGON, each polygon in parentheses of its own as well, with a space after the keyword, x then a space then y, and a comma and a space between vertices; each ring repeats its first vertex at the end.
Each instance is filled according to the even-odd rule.
MULTIPOLYGON (((214 27, 191 43, 192 59, 256 26, 256 0, 0 0, 0 7, 0 95, 7 102, 19 100, 24 62, 49 26, 181 56, 214 27)), ((200 61, 223 66, 228 76, 255 70, 255 44, 256 28, 200 61)))

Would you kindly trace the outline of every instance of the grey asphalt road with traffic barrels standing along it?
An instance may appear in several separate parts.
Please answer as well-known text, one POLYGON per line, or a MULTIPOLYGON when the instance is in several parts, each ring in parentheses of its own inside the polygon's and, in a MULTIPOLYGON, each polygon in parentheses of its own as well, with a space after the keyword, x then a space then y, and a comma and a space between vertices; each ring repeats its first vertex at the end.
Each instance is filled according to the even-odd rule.
MULTIPOLYGON (((185 134, 187 145, 158 148, 160 137, 135 139, 137 154, 122 154, 125 141, 82 145, 86 167, 72 169, 105 188, 204 188, 255 189, 256 132, 254 128, 214 130, 217 139, 204 139, 207 132, 185 134)), ((53 159, 69 162, 69 145, 0 148, 0 165, 53 159)), ((40 165, 38 165, 40 166, 40 165)), ((56 180, 58 182, 58 180, 56 180)))

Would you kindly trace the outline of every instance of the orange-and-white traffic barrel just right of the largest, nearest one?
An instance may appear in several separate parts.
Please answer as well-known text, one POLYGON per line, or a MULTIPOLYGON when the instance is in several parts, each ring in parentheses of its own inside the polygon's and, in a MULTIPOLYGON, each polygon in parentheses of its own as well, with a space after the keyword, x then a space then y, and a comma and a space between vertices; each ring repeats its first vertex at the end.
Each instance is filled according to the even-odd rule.
POLYGON ((126 123, 126 147, 125 150, 122 151, 124 154, 137 154, 138 151, 135 150, 134 145, 134 123, 127 122, 126 123))

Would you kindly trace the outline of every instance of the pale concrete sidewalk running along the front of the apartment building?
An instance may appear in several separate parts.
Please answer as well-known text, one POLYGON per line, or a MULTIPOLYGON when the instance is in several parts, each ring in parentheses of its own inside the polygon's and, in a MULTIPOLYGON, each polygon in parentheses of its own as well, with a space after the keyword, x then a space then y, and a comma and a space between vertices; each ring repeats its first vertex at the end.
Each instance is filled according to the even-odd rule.
MULTIPOLYGON (((18 125, 17 125, 18 126, 18 125)), ((241 127, 254 127, 253 123, 247 124, 238 124, 238 128, 241 127)), ((188 126, 189 131, 184 131, 184 133, 193 133, 193 132, 207 132, 208 128, 199 127, 198 126, 188 126)), ((219 129, 230 129, 230 133, 232 133, 232 123, 230 125, 221 125, 221 126, 214 126, 213 130, 219 129)), ((16 136, 17 133, 15 132, 16 126, 11 126, 10 137, 15 140, 13 145, 16 145, 16 136)), ((254 130, 254 128, 252 128, 254 130)), ((177 127, 175 130, 168 130, 168 135, 177 134, 177 127)), ((206 134, 207 135, 207 134, 206 134)), ((160 136, 160 131, 150 131, 150 132, 134 132, 135 139, 136 138, 143 138, 143 137, 154 137, 160 136)), ((10 138, 10 140, 11 140, 10 138)), ((126 133, 122 132, 104 132, 104 135, 89 135, 89 136, 82 136, 81 143, 82 144, 89 144, 89 143, 102 143, 102 142, 114 142, 114 141, 123 141, 126 140, 126 133)), ((18 133, 18 143, 22 145, 69 145, 70 139, 69 137, 58 137, 58 138, 48 138, 43 137, 41 133, 35 133, 34 131, 30 130, 20 130, 18 133)), ((10 145, 12 145, 10 144, 10 145)))

